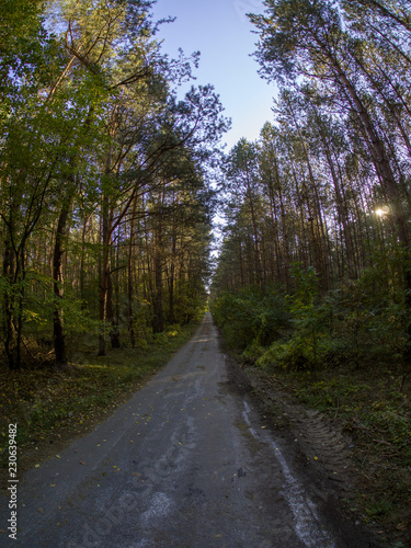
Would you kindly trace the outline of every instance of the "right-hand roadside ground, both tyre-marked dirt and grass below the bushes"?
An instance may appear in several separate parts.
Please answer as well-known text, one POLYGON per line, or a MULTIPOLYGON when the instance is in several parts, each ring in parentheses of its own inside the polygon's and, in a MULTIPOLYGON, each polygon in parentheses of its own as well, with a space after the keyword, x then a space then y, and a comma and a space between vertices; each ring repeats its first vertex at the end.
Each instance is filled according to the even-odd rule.
POLYGON ((299 464, 317 469, 319 494, 331 491, 383 545, 410 547, 410 385, 400 392, 400 379, 375 367, 292 374, 230 354, 228 362, 231 380, 261 402, 271 427, 292 432, 299 464))

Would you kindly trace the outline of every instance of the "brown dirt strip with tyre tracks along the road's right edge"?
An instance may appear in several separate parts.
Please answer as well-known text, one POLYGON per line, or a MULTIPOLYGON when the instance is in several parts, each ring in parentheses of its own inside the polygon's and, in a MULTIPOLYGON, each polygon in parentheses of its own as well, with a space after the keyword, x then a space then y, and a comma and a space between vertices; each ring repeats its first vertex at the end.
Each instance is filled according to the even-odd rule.
POLYGON ((323 502, 323 510, 341 523, 345 536, 353 535, 353 548, 411 546, 406 538, 399 541, 399 534, 393 539, 381 526, 364 523, 356 500, 366 480, 353 459, 355 445, 344 421, 305 408, 281 380, 273 383, 230 355, 226 361, 232 389, 251 396, 275 435, 294 447, 295 466, 307 478, 311 493, 323 502))

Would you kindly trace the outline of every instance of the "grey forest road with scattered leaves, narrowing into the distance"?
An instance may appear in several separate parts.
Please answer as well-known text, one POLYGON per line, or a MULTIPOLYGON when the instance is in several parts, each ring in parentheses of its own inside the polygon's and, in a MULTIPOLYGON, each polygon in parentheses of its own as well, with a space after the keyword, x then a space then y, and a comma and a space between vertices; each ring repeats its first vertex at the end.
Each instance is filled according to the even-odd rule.
POLYGON ((353 548, 225 362, 207 315, 109 420, 26 472, 18 540, 1 546, 353 548))

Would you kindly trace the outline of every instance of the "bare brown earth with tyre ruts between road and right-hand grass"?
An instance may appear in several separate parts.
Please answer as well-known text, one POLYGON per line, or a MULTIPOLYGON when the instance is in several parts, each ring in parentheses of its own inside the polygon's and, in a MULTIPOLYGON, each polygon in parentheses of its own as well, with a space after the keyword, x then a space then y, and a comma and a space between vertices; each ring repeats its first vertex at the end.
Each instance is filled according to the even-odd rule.
POLYGON ((308 409, 297 401, 281 378, 240 364, 231 355, 227 355, 227 367, 232 386, 253 396, 275 434, 294 439, 294 461, 311 479, 311 491, 319 499, 326 503, 338 501, 338 512, 342 512, 345 520, 369 530, 375 538, 373 546, 411 547, 408 521, 393 528, 366 520, 361 502, 373 494, 375 486, 358 465, 355 431, 346 421, 308 409))

